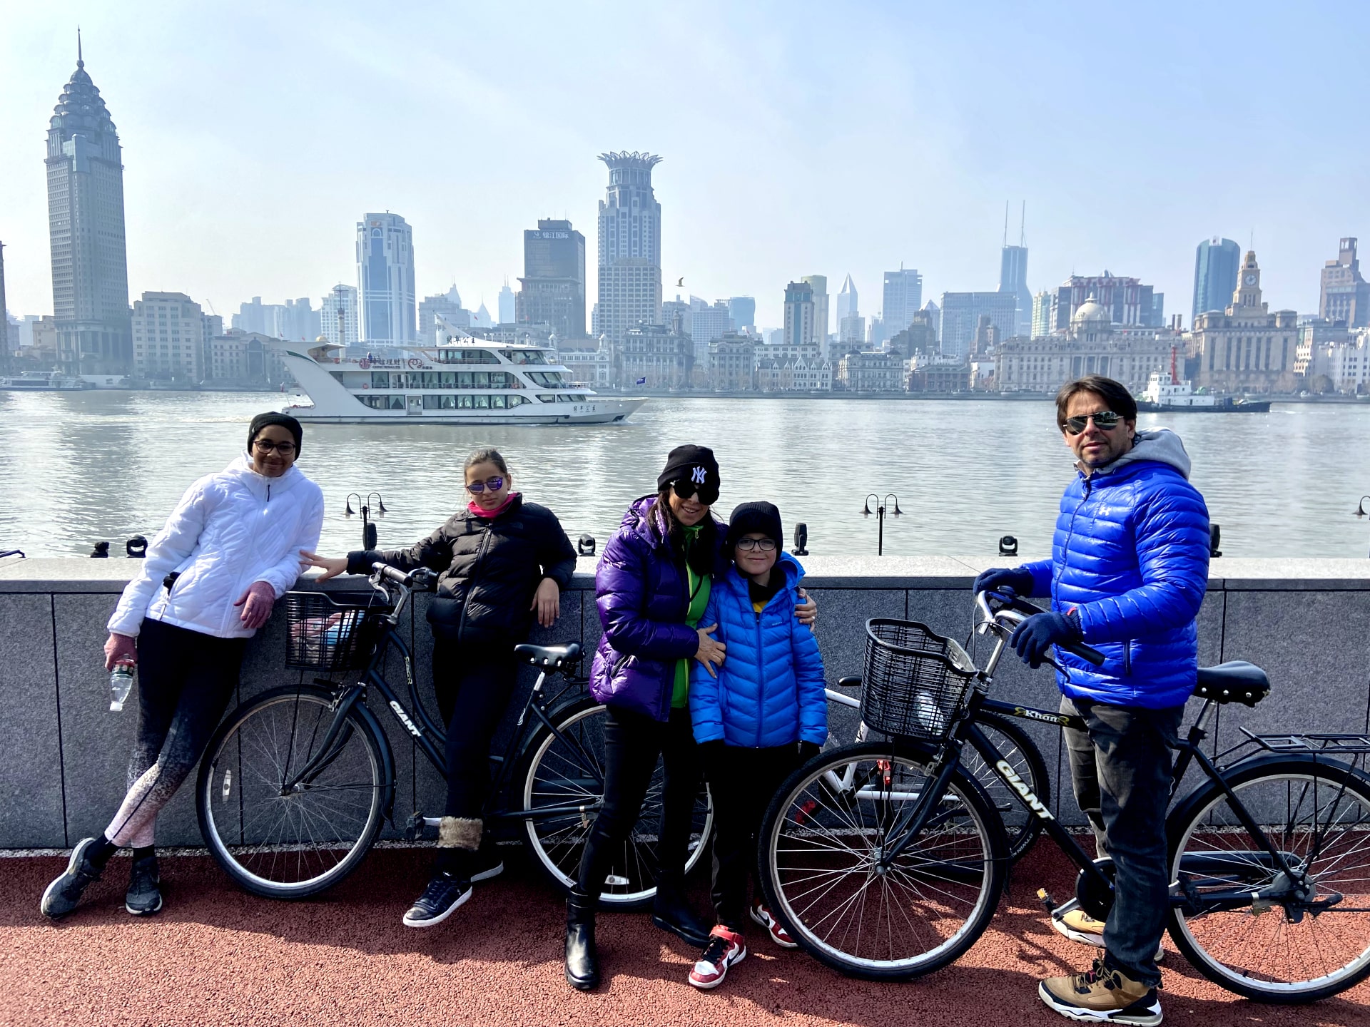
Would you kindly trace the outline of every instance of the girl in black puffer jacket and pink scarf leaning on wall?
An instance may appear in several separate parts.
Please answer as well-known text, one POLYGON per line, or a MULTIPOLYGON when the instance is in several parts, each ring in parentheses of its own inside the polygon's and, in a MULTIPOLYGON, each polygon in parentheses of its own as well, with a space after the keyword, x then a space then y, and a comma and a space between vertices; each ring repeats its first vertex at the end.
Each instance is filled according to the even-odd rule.
POLYGON ((433 879, 404 913, 408 927, 445 920, 470 897, 473 880, 504 868, 492 849, 481 850, 490 739, 514 694, 514 646, 534 616, 543 627, 556 622, 562 589, 575 571, 575 549, 556 515, 525 503, 511 485, 504 457, 478 449, 466 459, 471 501, 427 538, 408 549, 359 549, 347 559, 308 555, 325 570, 319 581, 344 571, 370 574, 374 563, 438 572, 427 619, 433 690, 447 724, 447 808, 433 879))

